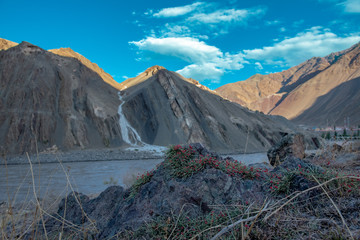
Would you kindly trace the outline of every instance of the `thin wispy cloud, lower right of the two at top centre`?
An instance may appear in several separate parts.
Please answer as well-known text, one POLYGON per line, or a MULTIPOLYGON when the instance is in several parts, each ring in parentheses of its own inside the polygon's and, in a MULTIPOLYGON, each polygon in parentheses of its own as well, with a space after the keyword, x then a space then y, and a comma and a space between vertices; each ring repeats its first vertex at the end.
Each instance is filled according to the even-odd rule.
POLYGON ((251 16, 259 16, 265 13, 262 8, 258 9, 220 9, 212 13, 197 13, 187 18, 190 22, 206 24, 243 22, 251 16))

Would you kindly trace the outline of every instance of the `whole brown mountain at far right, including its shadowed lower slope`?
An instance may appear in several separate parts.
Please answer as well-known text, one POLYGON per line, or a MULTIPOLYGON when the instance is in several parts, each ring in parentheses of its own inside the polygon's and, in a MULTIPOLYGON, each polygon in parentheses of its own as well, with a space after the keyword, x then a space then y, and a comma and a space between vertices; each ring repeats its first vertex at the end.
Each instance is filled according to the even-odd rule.
MULTIPOLYGON (((224 85, 216 92, 249 109, 281 115, 297 123, 341 125, 348 116, 360 119, 358 111, 343 111, 344 108, 357 109, 354 99, 360 89, 350 91, 344 86, 348 86, 345 83, 349 81, 358 81, 359 76, 360 43, 323 58, 311 58, 280 73, 257 74, 245 81, 224 85), (336 99, 329 101, 330 96, 336 99), (352 100, 344 101, 345 96, 352 100)), ((360 124, 356 121, 353 123, 360 124)))

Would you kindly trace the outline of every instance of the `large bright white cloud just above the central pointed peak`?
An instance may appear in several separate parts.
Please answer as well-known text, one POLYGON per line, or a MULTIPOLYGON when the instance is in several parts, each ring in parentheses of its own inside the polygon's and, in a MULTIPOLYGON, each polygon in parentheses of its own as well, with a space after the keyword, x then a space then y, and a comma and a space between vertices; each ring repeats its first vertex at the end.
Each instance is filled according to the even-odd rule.
POLYGON ((246 63, 241 53, 223 53, 217 47, 190 37, 147 37, 130 44, 137 46, 140 51, 154 54, 153 57, 176 57, 190 63, 177 72, 200 81, 219 81, 227 70, 239 70, 246 63))

